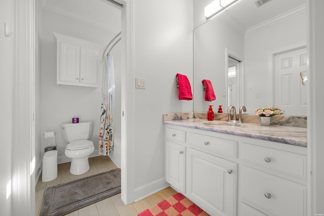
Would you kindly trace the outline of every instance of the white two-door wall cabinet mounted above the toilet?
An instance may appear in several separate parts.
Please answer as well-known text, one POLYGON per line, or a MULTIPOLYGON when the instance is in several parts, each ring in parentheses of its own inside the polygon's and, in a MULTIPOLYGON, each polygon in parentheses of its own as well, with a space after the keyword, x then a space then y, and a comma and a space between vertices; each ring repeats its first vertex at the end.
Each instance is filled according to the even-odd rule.
POLYGON ((101 45, 53 33, 57 42, 57 84, 99 87, 101 45))

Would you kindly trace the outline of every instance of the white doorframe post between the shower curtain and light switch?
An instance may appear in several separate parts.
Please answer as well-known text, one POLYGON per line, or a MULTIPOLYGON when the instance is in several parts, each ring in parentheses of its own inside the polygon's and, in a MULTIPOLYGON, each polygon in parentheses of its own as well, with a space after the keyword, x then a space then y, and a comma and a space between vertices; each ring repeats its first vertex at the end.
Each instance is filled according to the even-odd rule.
POLYGON ((135 101, 133 71, 133 1, 114 0, 121 9, 121 200, 135 200, 135 101))

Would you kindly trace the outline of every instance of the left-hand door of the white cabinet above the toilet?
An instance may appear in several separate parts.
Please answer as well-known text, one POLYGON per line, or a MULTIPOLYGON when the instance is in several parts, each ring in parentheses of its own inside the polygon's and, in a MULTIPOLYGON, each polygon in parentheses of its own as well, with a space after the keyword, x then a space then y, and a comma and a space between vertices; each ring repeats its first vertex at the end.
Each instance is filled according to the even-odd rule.
POLYGON ((57 83, 64 84, 67 82, 79 82, 80 71, 80 47, 67 42, 60 42, 60 55, 57 67, 59 74, 57 83), (63 81, 63 83, 61 83, 63 81))

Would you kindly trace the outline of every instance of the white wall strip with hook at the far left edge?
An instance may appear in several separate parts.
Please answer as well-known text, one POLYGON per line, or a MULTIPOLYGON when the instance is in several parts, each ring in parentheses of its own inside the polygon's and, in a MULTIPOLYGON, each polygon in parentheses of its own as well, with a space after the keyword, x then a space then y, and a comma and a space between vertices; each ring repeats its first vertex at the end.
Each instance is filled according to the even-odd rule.
MULTIPOLYGON (((13 31, 14 2, 4 0, 0 3, 0 24, 9 26, 13 31)), ((0 33, 0 209, 1 214, 11 215, 11 176, 12 176, 12 143, 13 143, 13 39, 14 36, 5 37, 4 31, 0 33), (9 186, 9 191, 7 187, 9 186), (7 197, 9 196, 9 197, 7 197)))

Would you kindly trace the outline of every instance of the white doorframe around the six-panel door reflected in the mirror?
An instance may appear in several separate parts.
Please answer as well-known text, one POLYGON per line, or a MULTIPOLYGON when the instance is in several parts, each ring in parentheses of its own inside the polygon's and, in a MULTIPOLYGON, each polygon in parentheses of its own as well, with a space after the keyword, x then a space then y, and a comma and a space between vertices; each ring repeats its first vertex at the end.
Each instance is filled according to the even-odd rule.
POLYGON ((274 106, 274 56, 290 51, 306 48, 306 41, 301 41, 293 45, 285 46, 270 50, 268 52, 268 92, 267 92, 267 104, 274 106))

